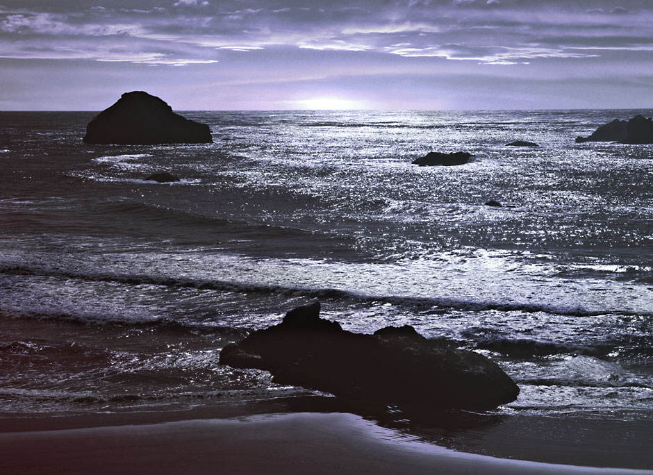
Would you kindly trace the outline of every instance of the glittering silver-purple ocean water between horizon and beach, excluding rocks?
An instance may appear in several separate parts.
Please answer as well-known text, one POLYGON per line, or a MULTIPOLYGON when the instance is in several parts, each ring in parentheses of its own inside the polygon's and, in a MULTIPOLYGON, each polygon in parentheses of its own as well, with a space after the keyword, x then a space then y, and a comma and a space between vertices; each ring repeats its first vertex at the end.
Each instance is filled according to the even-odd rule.
POLYGON ((318 299, 497 361, 496 415, 653 422, 653 146, 575 143, 638 113, 186 112, 215 143, 97 146, 96 113, 2 112, 0 420, 315 394, 219 356, 318 299))

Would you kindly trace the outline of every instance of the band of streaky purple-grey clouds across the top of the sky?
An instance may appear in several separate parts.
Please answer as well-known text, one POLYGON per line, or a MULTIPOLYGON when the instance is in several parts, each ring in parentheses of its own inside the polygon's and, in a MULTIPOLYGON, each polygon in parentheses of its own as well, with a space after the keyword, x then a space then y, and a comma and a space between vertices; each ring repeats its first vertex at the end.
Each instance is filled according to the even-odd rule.
POLYGON ((617 7, 597 0, 590 10, 585 0, 564 7, 552 0, 78 0, 86 6, 75 9, 66 2, 3 3, 0 51, 15 58, 49 49, 58 58, 69 51, 69 58, 113 61, 108 43, 118 42, 171 65, 176 58, 211 64, 224 51, 274 45, 509 64, 595 57, 611 47, 641 51, 646 42, 639 39, 653 37, 653 5, 640 0, 617 7), (625 15, 632 10, 638 15, 625 15), (85 41, 67 50, 71 38, 85 41), (592 46, 597 51, 580 51, 592 46))

